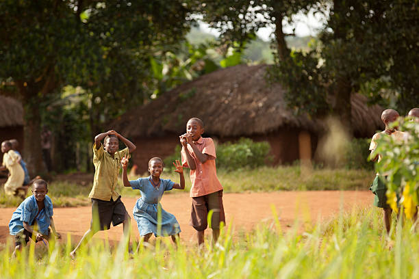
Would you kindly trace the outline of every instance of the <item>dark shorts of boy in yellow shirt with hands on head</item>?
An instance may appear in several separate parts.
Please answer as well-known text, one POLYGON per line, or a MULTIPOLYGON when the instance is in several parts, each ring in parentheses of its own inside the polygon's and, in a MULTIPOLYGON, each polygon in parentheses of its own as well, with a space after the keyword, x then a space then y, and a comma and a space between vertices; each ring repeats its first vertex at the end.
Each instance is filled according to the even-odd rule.
POLYGON ((110 223, 113 226, 118 226, 125 220, 130 219, 125 205, 120 200, 120 196, 115 201, 111 200, 98 200, 92 198, 92 221, 90 228, 97 228, 99 230, 109 230, 110 223), (96 227, 99 221, 99 227, 96 227))

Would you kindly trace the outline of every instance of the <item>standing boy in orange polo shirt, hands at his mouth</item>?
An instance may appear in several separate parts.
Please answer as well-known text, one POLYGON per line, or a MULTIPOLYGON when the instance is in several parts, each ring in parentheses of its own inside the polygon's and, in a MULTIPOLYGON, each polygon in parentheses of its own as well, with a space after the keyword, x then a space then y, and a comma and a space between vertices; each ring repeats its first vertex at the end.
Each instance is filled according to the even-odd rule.
POLYGON ((223 186, 217 178, 216 150, 210 137, 201 137, 203 122, 190 118, 186 124, 186 134, 181 135, 181 156, 184 167, 190 168, 192 188, 192 211, 190 224, 197 232, 198 244, 204 242, 207 215, 213 210, 211 228, 214 242, 220 235, 220 222, 225 222, 223 207, 223 186))

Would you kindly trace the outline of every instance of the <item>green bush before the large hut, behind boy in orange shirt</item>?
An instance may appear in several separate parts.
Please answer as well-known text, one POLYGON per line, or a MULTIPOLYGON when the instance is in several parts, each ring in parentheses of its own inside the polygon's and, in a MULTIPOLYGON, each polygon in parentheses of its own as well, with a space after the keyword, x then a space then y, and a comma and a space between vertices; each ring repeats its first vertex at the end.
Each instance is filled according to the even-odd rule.
MULTIPOLYGON (((172 162, 180 159, 181 146, 176 146, 175 153, 164 159, 166 169, 173 168, 172 162)), ((272 161, 269 155, 268 142, 253 142, 242 137, 238 142, 216 144, 217 169, 236 170, 240 168, 255 168, 272 161)))

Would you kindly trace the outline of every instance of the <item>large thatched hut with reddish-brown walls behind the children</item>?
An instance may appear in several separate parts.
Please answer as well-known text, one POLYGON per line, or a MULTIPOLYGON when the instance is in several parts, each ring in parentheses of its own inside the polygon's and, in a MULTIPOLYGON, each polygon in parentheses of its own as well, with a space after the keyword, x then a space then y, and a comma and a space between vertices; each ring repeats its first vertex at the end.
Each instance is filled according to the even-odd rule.
MULTIPOLYGON (((269 142, 275 164, 310 159, 325 122, 288 109, 281 85, 266 81, 267 67, 238 65, 203 75, 131 109, 110 128, 138 146, 133 161, 140 171, 147 170, 149 158, 173 154, 192 117, 201 118, 205 135, 218 142, 240 137, 269 142)), ((368 107, 359 94, 352 96, 351 104, 354 135, 372 136, 381 127, 383 109, 368 107)))

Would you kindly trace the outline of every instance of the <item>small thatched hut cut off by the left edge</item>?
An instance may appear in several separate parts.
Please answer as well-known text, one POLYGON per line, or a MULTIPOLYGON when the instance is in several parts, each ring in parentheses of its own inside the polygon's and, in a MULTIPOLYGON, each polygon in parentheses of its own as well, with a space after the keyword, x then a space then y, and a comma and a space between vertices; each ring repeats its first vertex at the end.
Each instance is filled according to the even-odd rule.
POLYGON ((19 149, 23 148, 23 107, 16 99, 0 95, 0 141, 5 139, 17 139, 19 149))

